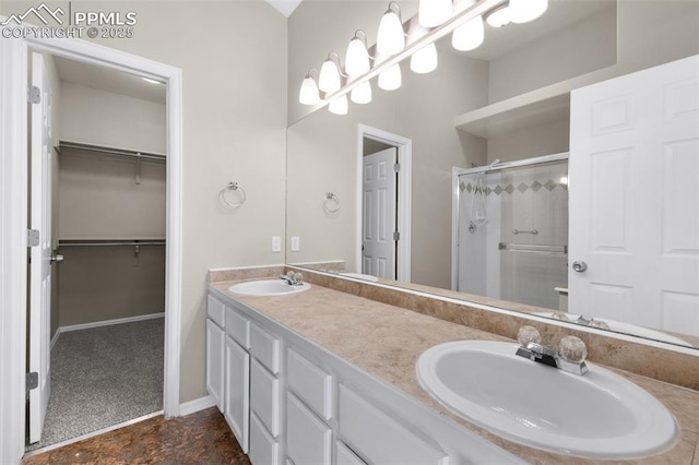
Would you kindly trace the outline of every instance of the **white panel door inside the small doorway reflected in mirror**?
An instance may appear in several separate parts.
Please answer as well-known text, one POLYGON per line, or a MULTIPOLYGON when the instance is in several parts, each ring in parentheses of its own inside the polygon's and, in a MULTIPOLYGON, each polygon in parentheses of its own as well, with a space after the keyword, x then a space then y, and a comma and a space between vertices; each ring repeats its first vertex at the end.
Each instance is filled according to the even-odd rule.
POLYGON ((362 273, 395 279, 398 151, 387 148, 363 158, 362 273))

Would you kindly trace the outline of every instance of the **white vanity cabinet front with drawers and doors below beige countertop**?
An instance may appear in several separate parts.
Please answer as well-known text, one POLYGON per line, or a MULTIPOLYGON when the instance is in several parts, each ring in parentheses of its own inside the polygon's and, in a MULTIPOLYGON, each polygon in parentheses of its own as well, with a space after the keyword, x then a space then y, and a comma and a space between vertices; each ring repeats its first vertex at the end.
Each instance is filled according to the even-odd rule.
POLYGON ((523 463, 215 287, 212 300, 224 415, 253 465, 523 463))

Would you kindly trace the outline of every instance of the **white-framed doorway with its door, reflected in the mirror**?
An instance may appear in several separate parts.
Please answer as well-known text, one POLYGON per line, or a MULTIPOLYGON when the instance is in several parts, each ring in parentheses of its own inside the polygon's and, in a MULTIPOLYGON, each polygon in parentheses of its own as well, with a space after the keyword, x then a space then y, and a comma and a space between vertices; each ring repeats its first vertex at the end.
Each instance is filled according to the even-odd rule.
POLYGON ((412 141, 359 124, 357 138, 357 269, 411 278, 412 141))

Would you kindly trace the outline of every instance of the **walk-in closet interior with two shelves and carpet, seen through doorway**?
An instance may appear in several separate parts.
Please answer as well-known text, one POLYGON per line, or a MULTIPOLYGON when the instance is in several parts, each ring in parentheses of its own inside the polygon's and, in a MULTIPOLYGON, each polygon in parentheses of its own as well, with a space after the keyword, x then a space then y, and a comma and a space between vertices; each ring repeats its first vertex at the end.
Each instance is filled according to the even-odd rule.
POLYGON ((50 395, 40 439, 29 428, 27 450, 163 409, 165 85, 43 60, 52 143, 50 395))

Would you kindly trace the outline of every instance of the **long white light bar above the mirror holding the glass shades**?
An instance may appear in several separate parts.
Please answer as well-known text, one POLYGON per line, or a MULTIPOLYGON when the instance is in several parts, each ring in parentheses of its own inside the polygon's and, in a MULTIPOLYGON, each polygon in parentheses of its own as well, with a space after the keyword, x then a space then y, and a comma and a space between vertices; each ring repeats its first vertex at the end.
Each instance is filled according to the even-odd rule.
MULTIPOLYGON (((490 11, 493 8, 503 3, 507 0, 481 0, 477 3, 473 4, 472 0, 457 0, 453 3, 453 11, 451 19, 449 19, 445 24, 428 29, 428 32, 417 38, 414 38, 413 41, 410 41, 405 45, 403 51, 392 57, 387 58, 381 62, 375 62, 374 68, 367 71, 364 74, 353 78, 348 80, 347 83, 342 86, 339 91, 327 94, 324 97, 325 104, 333 98, 347 94, 352 92, 353 88, 357 87, 362 83, 369 81, 372 78, 378 76, 382 71, 391 68, 393 64, 400 63, 405 58, 413 55, 415 51, 419 50, 427 44, 434 43, 447 35, 449 35, 453 29, 455 29, 461 24, 466 23, 469 20, 476 17, 478 15, 485 14, 490 11)), ((411 21, 417 21, 417 15, 415 15, 411 21)), ((410 37, 408 37, 410 39, 410 37)))

